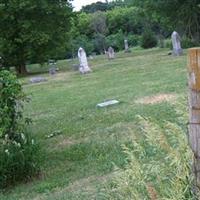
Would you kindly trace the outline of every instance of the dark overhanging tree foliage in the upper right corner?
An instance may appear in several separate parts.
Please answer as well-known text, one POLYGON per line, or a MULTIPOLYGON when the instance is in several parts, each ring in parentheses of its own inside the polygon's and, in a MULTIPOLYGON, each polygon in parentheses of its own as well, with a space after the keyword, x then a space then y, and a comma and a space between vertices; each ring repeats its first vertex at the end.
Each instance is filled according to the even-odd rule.
MULTIPOLYGON (((133 6, 142 7, 147 15, 156 14, 167 19, 173 30, 178 30, 197 44, 200 40, 199 0, 125 0, 133 6)), ((165 24, 166 25, 166 24, 165 24)), ((171 31, 173 31, 171 30, 171 31)))

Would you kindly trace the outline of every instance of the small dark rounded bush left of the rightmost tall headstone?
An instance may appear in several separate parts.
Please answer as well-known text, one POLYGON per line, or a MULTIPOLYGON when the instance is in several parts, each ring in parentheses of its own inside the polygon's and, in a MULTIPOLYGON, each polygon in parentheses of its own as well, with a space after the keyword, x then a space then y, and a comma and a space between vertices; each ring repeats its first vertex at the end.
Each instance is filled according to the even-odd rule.
POLYGON ((145 31, 141 38, 141 47, 144 49, 152 48, 157 45, 157 38, 151 31, 145 31))

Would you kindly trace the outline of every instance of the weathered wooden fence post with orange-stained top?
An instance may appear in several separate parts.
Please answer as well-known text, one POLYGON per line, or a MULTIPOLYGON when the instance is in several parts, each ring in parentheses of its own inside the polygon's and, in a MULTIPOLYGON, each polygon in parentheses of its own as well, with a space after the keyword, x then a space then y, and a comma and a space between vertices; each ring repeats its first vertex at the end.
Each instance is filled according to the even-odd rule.
POLYGON ((195 184, 200 188, 200 48, 188 52, 189 143, 194 153, 195 184))

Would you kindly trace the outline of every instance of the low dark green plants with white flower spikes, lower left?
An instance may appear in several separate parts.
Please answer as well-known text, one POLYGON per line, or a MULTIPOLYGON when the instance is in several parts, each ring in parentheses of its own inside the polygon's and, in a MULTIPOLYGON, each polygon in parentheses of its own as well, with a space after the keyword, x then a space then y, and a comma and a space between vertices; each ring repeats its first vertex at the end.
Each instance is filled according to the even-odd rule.
POLYGON ((0 189, 39 175, 40 147, 27 133, 0 141, 0 189))

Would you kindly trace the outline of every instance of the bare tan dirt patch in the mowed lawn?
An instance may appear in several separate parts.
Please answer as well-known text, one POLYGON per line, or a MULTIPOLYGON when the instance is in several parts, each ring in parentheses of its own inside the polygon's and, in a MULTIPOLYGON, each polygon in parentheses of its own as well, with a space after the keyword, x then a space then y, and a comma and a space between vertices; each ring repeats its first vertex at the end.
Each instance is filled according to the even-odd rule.
POLYGON ((136 103, 140 104, 157 104, 162 103, 164 101, 173 101, 176 99, 176 95, 174 94, 157 94, 154 96, 147 96, 141 99, 136 100, 136 103))

